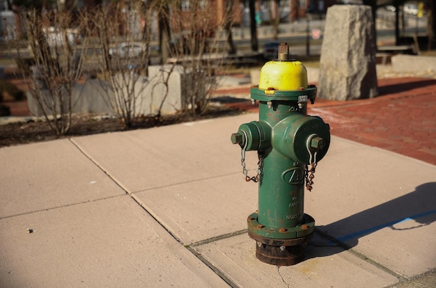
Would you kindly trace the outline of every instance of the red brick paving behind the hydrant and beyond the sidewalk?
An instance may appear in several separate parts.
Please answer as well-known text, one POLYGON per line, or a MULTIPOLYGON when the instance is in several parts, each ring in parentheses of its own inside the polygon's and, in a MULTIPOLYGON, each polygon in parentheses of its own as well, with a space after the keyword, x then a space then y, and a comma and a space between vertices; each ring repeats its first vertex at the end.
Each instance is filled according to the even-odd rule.
MULTIPOLYGON (((436 79, 380 79, 378 85, 376 98, 316 99, 308 113, 329 123, 334 136, 436 165, 436 79)), ((257 112, 250 103, 236 105, 257 112)))

